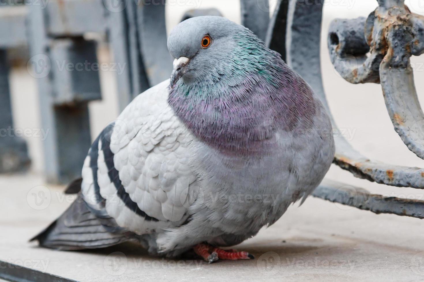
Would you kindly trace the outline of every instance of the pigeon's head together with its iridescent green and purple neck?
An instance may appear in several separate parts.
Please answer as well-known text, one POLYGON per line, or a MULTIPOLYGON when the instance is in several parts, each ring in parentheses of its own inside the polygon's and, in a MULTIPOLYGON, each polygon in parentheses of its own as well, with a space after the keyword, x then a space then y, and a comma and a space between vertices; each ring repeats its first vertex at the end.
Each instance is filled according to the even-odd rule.
POLYGON ((172 30, 167 46, 175 58, 169 106, 224 154, 273 152, 277 128, 304 130, 298 124, 306 128, 315 115, 307 83, 242 25, 194 17, 172 30))

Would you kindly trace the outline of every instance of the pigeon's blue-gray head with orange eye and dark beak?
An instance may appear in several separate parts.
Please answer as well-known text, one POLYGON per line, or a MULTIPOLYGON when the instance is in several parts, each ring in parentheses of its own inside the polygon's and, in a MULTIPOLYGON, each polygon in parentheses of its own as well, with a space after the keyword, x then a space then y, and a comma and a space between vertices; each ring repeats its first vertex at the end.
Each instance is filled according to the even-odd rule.
POLYGON ((221 16, 198 16, 177 25, 168 37, 168 50, 175 58, 171 86, 217 82, 231 66, 243 60, 238 52, 253 43, 265 47, 250 30, 221 16))

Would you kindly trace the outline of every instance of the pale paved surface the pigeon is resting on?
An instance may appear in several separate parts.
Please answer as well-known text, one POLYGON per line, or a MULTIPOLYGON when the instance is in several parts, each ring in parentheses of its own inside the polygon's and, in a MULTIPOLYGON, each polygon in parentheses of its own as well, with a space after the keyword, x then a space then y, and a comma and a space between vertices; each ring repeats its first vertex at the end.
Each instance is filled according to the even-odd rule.
POLYGON ((421 220, 346 210, 315 198, 237 246, 255 260, 176 262, 131 245, 84 252, 42 249, 28 238, 70 203, 62 198, 62 187, 50 186, 50 205, 32 208, 31 188, 42 183, 36 176, 0 178, 0 260, 78 281, 424 281, 421 220))

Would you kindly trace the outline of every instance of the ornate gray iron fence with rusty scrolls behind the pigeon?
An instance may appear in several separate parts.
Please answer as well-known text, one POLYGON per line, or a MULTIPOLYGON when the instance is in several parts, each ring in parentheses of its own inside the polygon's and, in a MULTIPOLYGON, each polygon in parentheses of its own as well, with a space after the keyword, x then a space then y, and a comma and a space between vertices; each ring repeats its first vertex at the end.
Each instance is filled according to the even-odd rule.
MULTIPOLYGON (((324 0, 279 0, 271 19, 268 0, 240 1, 242 24, 279 52, 312 86, 330 112, 320 62, 324 0)), ((117 74, 122 109, 134 96, 167 79, 172 68, 166 50, 165 1, 155 3, 50 0, 46 7, 31 5, 26 27, 31 63, 50 70, 54 66, 49 63, 56 58, 80 60, 84 54, 96 61, 95 42, 86 41, 83 35, 87 31, 107 33, 114 61, 128 66, 117 74), (88 22, 83 20, 87 18, 88 22)), ((424 114, 410 66, 410 56, 424 52, 424 18, 411 13, 402 0, 378 0, 378 4, 366 19, 332 22, 329 54, 335 69, 348 82, 381 83, 394 129, 411 151, 424 158, 424 114)), ((184 19, 217 13, 215 9, 190 11, 184 19)), ((0 33, 0 41, 1 38, 0 33)), ((86 107, 89 101, 100 99, 98 77, 83 80, 81 85, 75 85, 75 79, 80 79, 81 84, 81 77, 68 77, 54 69, 38 79, 43 126, 56 129, 44 142, 46 173, 53 181, 67 181, 79 175, 85 149, 91 142, 86 107), (64 85, 67 92, 62 91, 64 85), (83 130, 75 130, 76 126, 83 130)), ((332 122, 337 130, 334 119, 332 122)), ((354 150, 342 134, 335 134, 335 141, 334 163, 356 177, 424 189, 424 169, 371 160, 354 150)), ((345 183, 324 180, 313 195, 375 213, 424 218, 424 201, 374 195, 345 183)))

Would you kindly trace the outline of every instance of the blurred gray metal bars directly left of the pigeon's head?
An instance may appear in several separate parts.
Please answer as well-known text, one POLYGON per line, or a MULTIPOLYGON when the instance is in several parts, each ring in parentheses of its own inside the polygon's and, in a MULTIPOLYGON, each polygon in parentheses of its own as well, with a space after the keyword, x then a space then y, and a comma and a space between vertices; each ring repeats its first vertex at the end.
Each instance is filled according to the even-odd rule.
POLYGON ((125 64, 117 75, 119 107, 169 78, 172 58, 167 51, 165 1, 105 0, 109 40, 114 60, 125 64))

